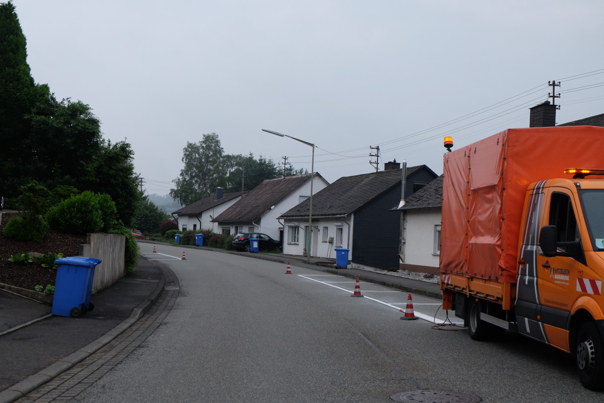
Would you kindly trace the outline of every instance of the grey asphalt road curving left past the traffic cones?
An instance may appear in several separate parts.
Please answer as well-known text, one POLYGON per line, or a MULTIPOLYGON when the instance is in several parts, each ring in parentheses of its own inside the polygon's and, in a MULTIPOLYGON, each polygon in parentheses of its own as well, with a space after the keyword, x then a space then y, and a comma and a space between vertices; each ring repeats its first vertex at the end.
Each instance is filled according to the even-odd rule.
MULTIPOLYGON (((175 272, 180 292, 161 326, 75 402, 391 402, 408 390, 482 402, 592 402, 571 357, 510 335, 472 341, 424 319, 400 320, 407 295, 282 263, 141 243, 175 272)), ((431 305, 435 304, 435 305, 431 305)), ((454 318, 455 320, 455 318, 454 318)))

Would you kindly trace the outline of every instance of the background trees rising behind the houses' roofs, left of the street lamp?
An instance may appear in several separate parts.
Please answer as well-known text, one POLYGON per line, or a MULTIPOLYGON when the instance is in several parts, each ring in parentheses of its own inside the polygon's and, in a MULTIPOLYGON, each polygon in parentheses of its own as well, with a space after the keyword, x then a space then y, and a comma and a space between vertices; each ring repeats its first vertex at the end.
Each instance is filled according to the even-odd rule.
POLYGON ((225 192, 240 192, 254 189, 265 179, 286 175, 300 175, 307 170, 295 170, 288 164, 285 172, 274 161, 252 153, 225 154, 216 133, 204 134, 201 141, 191 143, 182 150, 183 168, 174 179, 176 189, 170 196, 182 205, 191 204, 211 195, 217 187, 225 192))

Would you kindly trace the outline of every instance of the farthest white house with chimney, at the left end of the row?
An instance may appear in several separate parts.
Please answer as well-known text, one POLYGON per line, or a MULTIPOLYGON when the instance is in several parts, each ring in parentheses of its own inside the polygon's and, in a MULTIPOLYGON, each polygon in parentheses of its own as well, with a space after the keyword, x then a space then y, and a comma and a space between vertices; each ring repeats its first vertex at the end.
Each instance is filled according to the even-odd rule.
POLYGON ((224 193, 224 190, 218 187, 214 195, 179 208, 172 213, 172 217, 178 222, 178 229, 181 231, 211 229, 213 232, 224 233, 212 220, 231 207, 241 196, 241 192, 224 193))

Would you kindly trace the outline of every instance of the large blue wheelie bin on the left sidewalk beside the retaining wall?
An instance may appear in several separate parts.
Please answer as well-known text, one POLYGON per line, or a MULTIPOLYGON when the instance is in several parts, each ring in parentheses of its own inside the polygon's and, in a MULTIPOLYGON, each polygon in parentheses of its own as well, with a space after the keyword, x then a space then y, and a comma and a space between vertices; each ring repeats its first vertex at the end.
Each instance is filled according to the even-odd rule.
POLYGON ((54 261, 57 265, 57 280, 54 285, 53 315, 74 318, 94 309, 90 301, 94 269, 100 259, 92 257, 62 257, 54 261))

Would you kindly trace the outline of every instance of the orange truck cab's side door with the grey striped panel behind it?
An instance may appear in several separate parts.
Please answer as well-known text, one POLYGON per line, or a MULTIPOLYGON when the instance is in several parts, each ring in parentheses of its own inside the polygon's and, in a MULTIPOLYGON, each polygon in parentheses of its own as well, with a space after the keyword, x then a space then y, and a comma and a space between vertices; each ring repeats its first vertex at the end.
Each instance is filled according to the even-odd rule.
POLYGON ((527 202, 516 288, 518 332, 568 351, 568 323, 577 271, 585 263, 573 195, 566 189, 536 184, 527 202), (543 225, 556 225, 561 251, 570 256, 545 257, 537 234, 543 225))

